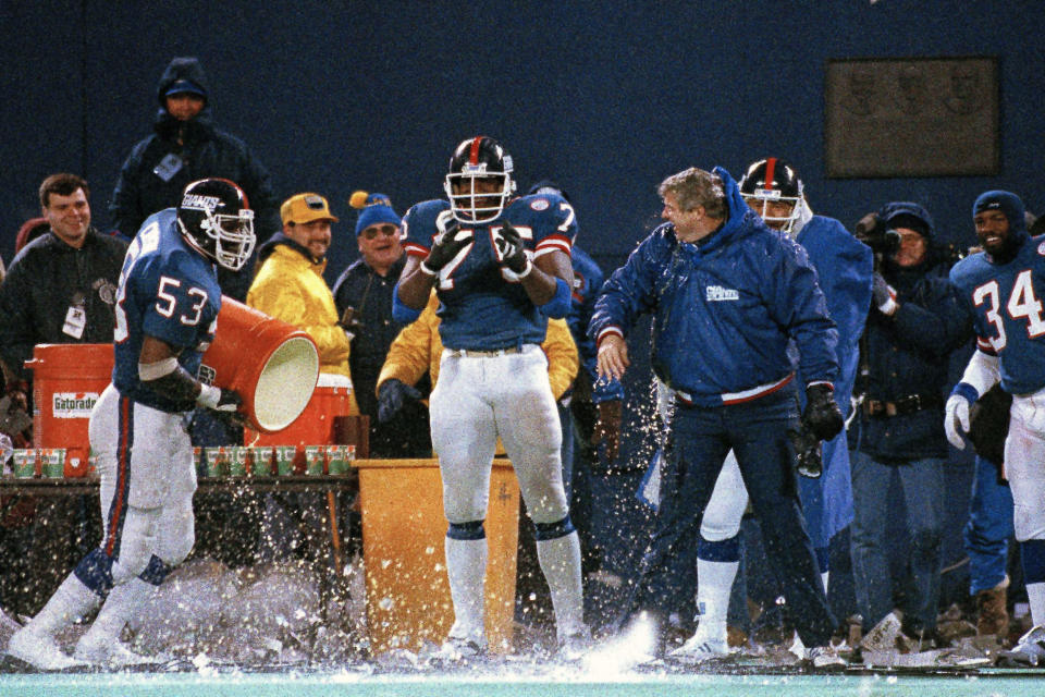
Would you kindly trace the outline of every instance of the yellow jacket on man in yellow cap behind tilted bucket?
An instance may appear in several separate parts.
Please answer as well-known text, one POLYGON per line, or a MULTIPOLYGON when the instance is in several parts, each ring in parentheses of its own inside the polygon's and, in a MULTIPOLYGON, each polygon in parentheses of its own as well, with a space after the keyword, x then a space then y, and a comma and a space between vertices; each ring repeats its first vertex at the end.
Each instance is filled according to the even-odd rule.
MULTIPOLYGON (((319 350, 319 371, 352 379, 348 337, 337 325, 334 296, 323 280, 327 261, 317 264, 287 243, 293 244, 280 234, 262 247, 263 261, 247 291, 247 305, 304 329, 319 350)), ((351 400, 352 414, 358 414, 354 392, 351 400)))

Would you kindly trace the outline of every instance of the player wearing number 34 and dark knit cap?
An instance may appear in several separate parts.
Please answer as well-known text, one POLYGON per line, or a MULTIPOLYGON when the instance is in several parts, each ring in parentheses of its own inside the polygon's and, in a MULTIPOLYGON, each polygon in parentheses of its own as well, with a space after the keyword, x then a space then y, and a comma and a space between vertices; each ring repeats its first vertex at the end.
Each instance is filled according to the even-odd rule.
POLYGON ((972 217, 983 252, 955 266, 950 282, 973 315, 976 352, 947 401, 944 427, 963 448, 976 399, 998 381, 1012 394, 1005 475, 1034 622, 1013 652, 1045 658, 1045 237, 1029 235, 1023 201, 1009 192, 981 194, 972 217))

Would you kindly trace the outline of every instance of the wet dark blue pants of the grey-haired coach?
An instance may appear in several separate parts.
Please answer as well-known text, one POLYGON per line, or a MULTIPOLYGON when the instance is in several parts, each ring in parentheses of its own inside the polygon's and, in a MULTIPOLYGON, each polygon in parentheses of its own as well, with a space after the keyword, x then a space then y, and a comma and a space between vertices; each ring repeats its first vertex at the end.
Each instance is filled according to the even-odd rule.
POLYGON ((677 406, 667 441, 661 506, 624 621, 641 610, 661 615, 662 609, 677 604, 673 596, 681 589, 665 582, 680 547, 697 539, 715 479, 732 448, 795 628, 806 646, 827 644, 835 619, 798 499, 795 451, 788 438, 788 429, 797 425, 794 389, 740 404, 677 406))

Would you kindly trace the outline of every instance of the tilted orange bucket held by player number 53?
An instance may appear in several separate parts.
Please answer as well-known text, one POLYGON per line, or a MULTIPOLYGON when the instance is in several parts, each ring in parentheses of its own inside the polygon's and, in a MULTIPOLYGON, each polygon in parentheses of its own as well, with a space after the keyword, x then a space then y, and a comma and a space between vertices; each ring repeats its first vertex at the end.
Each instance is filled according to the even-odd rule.
POLYGON ((250 427, 272 433, 294 423, 311 399, 319 352, 303 330, 222 296, 199 375, 238 392, 250 427))

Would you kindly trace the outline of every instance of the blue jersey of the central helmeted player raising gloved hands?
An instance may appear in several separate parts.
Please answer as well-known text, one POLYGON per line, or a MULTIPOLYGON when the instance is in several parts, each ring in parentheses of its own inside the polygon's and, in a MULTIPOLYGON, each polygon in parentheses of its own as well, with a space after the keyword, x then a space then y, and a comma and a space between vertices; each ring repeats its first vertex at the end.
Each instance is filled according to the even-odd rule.
MULTIPOLYGON (((406 253, 425 258, 439 234, 435 219, 450 209, 443 199, 413 206, 403 218, 406 253)), ((530 301, 518 281, 505 278, 497 265, 492 231, 509 221, 531 258, 552 250, 569 256, 577 223, 574 209, 556 194, 514 199, 501 217, 483 225, 462 224, 472 241, 439 273, 435 292, 441 318, 439 333, 447 348, 493 351, 544 341, 548 317, 530 301)))

